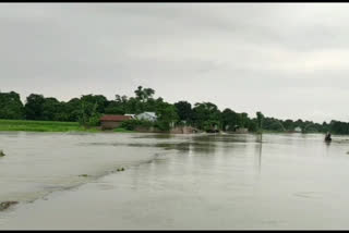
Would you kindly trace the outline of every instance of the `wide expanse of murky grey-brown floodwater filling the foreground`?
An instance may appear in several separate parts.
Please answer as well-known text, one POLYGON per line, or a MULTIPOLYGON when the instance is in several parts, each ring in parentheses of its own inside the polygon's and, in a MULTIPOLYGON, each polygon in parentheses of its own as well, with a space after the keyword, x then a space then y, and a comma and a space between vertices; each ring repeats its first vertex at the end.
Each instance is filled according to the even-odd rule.
POLYGON ((349 137, 323 139, 3 132, 0 229, 349 229, 349 137))

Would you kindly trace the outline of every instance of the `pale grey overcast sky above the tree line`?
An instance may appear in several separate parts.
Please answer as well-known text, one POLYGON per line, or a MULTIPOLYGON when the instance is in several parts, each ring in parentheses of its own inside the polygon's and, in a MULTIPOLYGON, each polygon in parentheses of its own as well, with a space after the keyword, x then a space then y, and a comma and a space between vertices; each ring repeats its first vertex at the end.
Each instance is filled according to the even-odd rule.
POLYGON ((349 121, 348 3, 1 3, 0 90, 349 121))

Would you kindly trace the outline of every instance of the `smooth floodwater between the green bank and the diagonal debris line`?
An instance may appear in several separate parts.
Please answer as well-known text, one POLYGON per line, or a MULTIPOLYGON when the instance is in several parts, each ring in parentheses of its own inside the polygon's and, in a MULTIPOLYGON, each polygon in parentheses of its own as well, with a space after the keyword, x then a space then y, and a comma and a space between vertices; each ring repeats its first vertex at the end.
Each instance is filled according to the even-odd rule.
POLYGON ((130 139, 129 135, 2 132, 0 148, 7 156, 0 159, 0 201, 35 200, 156 157, 152 147, 142 149, 144 154, 130 148, 130 139), (110 147, 113 142, 121 145, 110 147))

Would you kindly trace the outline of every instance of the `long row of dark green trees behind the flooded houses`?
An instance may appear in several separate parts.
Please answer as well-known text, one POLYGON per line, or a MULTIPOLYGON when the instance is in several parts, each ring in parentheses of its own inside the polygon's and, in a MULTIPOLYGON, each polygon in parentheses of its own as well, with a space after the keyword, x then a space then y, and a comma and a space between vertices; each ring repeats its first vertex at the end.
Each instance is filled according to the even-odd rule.
MULTIPOLYGON (((33 120, 31 123, 33 125, 37 121, 55 121, 56 126, 59 125, 59 122, 65 122, 67 124, 62 123, 61 127, 79 130, 82 128, 81 126, 97 126, 103 114, 137 114, 151 111, 158 115, 157 122, 130 121, 124 122, 122 127, 127 131, 132 131, 136 126, 168 131, 173 125, 191 125, 202 131, 212 128, 236 131, 245 127, 250 132, 258 132, 261 128, 269 132, 292 132, 296 127, 300 127, 304 133, 329 131, 334 134, 349 134, 349 123, 340 121, 333 120, 329 123, 318 124, 300 119, 297 121, 278 120, 264 116, 262 112, 256 112, 255 116, 249 116, 245 112, 234 112, 229 108, 220 111, 212 102, 196 102, 192 106, 182 100, 172 105, 166 102, 161 97, 154 98, 155 90, 142 86, 139 86, 134 94, 133 97, 116 95, 112 100, 108 100, 103 95, 83 95, 67 102, 39 94, 31 94, 23 105, 17 93, 0 93, 0 119, 33 120)), ((0 126, 9 130, 24 127, 20 121, 16 124, 9 122, 1 121, 0 126)))

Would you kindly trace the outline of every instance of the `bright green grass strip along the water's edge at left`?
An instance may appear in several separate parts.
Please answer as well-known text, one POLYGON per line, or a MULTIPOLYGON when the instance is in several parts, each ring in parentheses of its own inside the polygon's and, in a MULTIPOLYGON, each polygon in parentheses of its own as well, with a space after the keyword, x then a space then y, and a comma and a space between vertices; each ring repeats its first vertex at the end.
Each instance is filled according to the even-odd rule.
POLYGON ((0 119, 0 131, 32 131, 32 132, 69 132, 87 131, 95 132, 96 128, 84 128, 77 122, 57 121, 26 121, 26 120, 2 120, 0 119))

